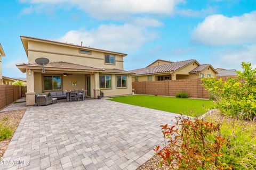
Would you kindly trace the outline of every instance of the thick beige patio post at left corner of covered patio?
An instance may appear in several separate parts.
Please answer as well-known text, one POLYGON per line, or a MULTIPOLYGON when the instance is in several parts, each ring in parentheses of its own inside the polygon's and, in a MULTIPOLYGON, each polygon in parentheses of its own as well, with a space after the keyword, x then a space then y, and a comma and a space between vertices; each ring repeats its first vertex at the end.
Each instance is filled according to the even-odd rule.
POLYGON ((26 105, 35 105, 35 89, 34 89, 34 71, 26 69, 27 73, 27 92, 26 92, 26 105))

